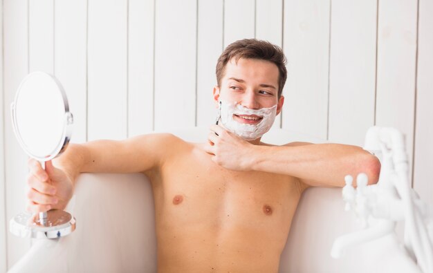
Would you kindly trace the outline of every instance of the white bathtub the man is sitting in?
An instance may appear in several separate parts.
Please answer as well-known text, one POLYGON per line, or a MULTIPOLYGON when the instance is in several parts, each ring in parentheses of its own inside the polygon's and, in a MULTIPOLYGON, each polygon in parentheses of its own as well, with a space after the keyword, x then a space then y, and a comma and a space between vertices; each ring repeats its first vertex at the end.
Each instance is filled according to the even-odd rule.
MULTIPOLYGON (((207 130, 175 133, 200 141, 207 130)), ((270 133, 267 140, 282 144, 312 139, 300 139, 291 132, 278 130, 270 133)), ((58 240, 34 241, 10 272, 156 272, 154 203, 146 176, 83 173, 68 211, 77 219, 75 232, 58 240)), ((391 258, 396 257, 394 250, 383 250, 377 244, 371 245, 374 243, 349 250, 344 258, 331 258, 334 239, 356 229, 359 227, 354 216, 344 211, 340 188, 306 190, 293 219, 279 271, 384 272, 383 266, 390 269, 391 258)))

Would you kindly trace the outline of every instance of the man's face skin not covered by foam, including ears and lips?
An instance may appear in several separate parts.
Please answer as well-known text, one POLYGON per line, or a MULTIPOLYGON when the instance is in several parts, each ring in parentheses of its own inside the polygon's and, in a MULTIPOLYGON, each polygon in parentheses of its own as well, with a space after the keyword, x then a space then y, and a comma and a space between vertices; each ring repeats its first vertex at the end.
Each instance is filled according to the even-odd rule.
MULTIPOLYGON (((234 59, 225 66, 221 86, 214 87, 214 100, 237 102, 248 109, 269 108, 277 104, 277 115, 281 112, 284 97, 278 99, 278 67, 261 59, 234 59)), ((258 124, 260 120, 234 115, 234 120, 245 124, 258 124)))

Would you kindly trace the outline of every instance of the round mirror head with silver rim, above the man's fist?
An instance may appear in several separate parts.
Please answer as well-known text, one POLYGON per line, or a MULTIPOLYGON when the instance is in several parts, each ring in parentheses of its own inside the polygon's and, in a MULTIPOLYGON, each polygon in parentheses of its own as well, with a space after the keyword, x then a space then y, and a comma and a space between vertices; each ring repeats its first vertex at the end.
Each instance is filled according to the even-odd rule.
POLYGON ((73 122, 62 85, 48 73, 30 73, 12 103, 12 122, 21 147, 40 161, 61 153, 73 122))

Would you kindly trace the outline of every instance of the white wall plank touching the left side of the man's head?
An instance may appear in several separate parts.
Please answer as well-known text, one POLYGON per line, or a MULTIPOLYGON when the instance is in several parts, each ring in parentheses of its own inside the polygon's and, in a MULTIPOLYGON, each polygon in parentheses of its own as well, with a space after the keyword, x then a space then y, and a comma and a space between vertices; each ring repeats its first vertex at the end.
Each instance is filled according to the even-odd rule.
POLYGON ((217 85, 216 62, 223 50, 223 0, 200 0, 198 20, 196 120, 197 126, 207 128, 216 118, 212 90, 217 85))

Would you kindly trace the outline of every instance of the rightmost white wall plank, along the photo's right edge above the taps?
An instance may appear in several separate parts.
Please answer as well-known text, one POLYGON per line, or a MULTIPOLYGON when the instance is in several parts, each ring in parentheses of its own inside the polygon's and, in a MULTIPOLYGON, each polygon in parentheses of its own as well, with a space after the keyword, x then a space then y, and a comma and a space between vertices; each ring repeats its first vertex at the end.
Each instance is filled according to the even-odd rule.
POLYGON ((433 205, 433 2, 419 5, 414 189, 433 205))

